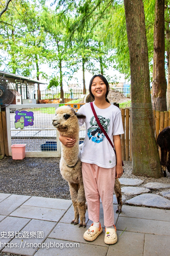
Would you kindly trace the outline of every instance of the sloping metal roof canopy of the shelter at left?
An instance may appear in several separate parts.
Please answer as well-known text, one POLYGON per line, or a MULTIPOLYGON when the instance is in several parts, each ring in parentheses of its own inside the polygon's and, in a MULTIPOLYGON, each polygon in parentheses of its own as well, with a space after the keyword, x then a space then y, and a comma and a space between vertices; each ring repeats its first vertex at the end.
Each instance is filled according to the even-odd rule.
POLYGON ((47 84, 47 83, 44 83, 44 82, 39 81, 39 80, 34 80, 32 78, 29 78, 29 77, 18 76, 16 74, 4 72, 4 71, 0 71, 0 76, 9 78, 9 80, 10 79, 13 80, 13 81, 11 81, 13 83, 24 83, 26 81, 26 82, 37 83, 37 84, 47 84))

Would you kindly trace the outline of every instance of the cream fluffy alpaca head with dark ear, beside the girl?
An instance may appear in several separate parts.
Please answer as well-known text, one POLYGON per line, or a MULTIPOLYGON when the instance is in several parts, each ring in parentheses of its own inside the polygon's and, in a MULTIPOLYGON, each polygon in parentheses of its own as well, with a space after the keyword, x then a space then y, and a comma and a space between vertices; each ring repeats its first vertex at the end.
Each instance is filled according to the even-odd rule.
POLYGON ((86 118, 86 116, 76 113, 75 110, 69 106, 61 106, 56 109, 53 125, 58 131, 66 131, 69 128, 73 128, 73 126, 75 127, 75 125, 78 125, 77 118, 82 119, 86 118))

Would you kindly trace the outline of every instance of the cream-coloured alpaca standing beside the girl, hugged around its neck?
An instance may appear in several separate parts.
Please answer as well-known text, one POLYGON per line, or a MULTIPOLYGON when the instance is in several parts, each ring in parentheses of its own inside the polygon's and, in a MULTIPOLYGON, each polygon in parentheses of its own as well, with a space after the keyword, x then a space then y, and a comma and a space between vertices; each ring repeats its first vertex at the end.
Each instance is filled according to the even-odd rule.
MULTIPOLYGON (((62 177, 68 181, 70 187, 70 195, 74 207, 74 219, 71 223, 74 223, 74 225, 78 224, 80 216, 79 227, 83 226, 85 228, 86 198, 80 161, 83 144, 79 146, 78 123, 78 119, 82 118, 85 118, 85 115, 76 113, 75 110, 69 106, 61 106, 56 109, 56 116, 53 119, 53 125, 57 128, 61 136, 76 139, 75 145, 71 148, 61 144, 62 155, 60 160, 60 172, 62 177)), ((121 212, 122 194, 118 179, 115 180, 114 190, 118 201, 118 208, 116 212, 121 212)))

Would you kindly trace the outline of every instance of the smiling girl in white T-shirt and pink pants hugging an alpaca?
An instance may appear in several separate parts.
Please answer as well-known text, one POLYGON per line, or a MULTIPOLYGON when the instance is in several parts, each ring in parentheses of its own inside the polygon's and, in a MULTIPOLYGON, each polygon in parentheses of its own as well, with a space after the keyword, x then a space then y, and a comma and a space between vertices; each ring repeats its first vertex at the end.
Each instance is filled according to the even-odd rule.
MULTIPOLYGON (((95 120, 90 103, 83 105, 78 112, 86 116, 85 120, 80 121, 80 125, 84 121, 86 124, 81 162, 88 217, 93 221, 83 237, 87 241, 94 241, 102 232, 99 222, 101 198, 106 226, 104 242, 114 244, 117 242, 117 235, 114 226, 113 191, 115 178, 120 178, 123 174, 120 134, 124 131, 121 111, 109 103, 108 92, 109 83, 106 78, 100 74, 91 78, 89 93, 95 99, 93 106, 100 123, 114 143, 116 158, 112 146, 95 120)), ((59 139, 67 147, 72 147, 75 143, 71 138, 60 136, 59 139)))

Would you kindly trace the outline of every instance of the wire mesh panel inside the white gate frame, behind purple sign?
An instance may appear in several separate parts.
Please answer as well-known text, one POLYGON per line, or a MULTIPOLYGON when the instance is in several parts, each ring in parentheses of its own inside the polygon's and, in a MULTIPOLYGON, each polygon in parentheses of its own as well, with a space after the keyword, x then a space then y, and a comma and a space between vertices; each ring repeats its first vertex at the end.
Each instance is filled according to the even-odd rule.
POLYGON ((50 108, 10 108, 10 131, 12 144, 26 144, 26 151, 57 151, 56 129, 51 124, 55 116, 55 107, 50 108), (17 112, 18 111, 18 112, 17 112), (30 125, 22 127, 21 118, 28 119, 30 125), (31 114, 33 113, 33 114, 31 114), (25 115, 21 115, 25 114, 25 115))

